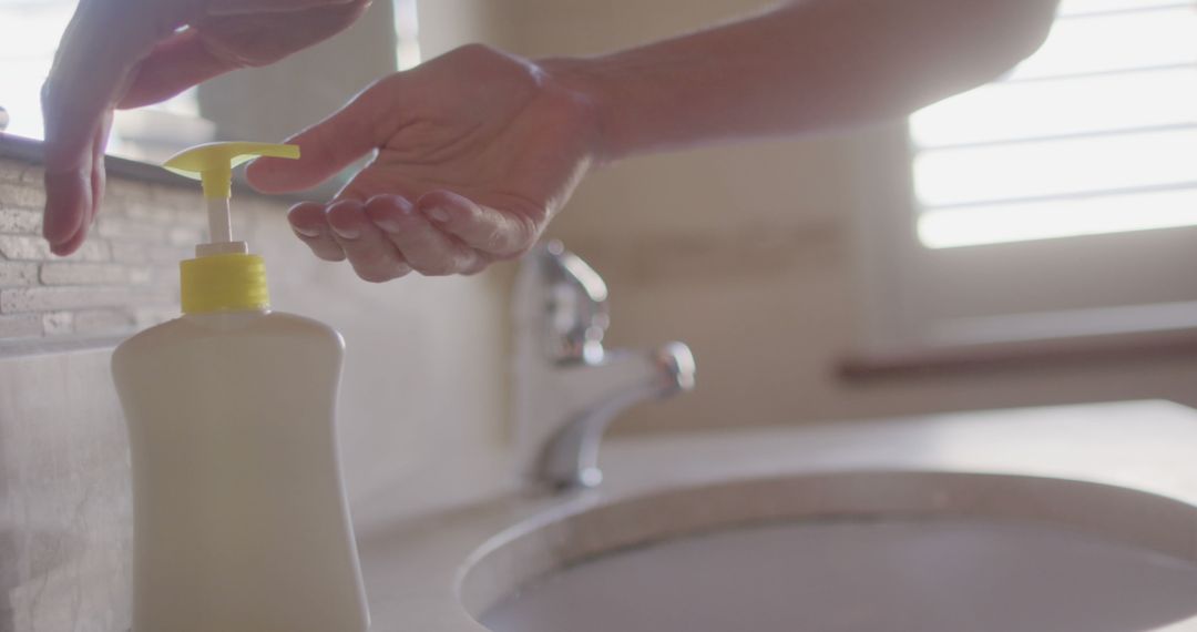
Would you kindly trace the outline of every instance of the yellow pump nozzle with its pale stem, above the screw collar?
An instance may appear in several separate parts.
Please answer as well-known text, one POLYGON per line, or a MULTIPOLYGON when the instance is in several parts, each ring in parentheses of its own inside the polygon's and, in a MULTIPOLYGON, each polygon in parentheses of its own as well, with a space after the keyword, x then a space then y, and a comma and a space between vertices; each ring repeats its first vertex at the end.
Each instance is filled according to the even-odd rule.
POLYGON ((198 254, 247 251, 244 244, 232 241, 232 219, 229 214, 232 168, 259 156, 299 158, 299 147, 269 142, 208 142, 176 153, 163 163, 168 170, 203 183, 212 243, 205 244, 211 248, 198 248, 198 254))

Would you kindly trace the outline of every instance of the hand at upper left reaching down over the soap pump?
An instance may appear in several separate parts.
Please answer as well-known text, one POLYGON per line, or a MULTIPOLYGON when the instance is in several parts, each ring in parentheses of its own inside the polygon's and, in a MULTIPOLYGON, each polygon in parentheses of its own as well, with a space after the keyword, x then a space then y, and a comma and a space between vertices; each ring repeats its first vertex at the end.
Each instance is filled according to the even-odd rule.
POLYGON ((45 221, 55 254, 87 236, 115 108, 263 66, 353 23, 370 0, 80 0, 42 89, 45 221), (181 28, 184 28, 180 30, 181 28))

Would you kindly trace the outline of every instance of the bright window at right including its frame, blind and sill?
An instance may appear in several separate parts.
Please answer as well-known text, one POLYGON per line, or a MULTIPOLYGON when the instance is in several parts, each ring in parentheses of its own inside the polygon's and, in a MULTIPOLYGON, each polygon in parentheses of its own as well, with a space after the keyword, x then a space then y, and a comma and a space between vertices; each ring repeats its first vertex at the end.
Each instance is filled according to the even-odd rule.
POLYGON ((867 345, 1197 328, 1193 34, 1193 0, 1063 0, 1039 51, 882 138, 867 345))

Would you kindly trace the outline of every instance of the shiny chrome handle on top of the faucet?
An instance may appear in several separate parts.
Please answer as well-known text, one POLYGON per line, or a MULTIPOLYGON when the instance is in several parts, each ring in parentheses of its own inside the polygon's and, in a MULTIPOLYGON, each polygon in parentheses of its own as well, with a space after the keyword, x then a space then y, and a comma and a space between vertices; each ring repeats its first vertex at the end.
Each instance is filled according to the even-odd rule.
POLYGON ((547 322, 555 359, 570 363, 602 358, 602 339, 610 326, 602 276, 557 239, 545 244, 541 269, 549 288, 547 322))

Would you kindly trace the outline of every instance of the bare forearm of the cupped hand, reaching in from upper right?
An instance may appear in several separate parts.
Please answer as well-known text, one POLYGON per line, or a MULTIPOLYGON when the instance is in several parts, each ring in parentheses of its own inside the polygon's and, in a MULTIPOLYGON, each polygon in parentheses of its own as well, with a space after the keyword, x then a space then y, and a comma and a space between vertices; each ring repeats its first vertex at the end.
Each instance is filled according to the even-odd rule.
POLYGON ((543 66, 594 104, 607 160, 900 116, 1031 54, 1055 0, 806 0, 543 66))

